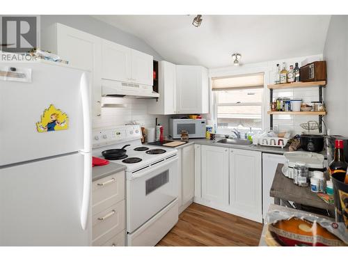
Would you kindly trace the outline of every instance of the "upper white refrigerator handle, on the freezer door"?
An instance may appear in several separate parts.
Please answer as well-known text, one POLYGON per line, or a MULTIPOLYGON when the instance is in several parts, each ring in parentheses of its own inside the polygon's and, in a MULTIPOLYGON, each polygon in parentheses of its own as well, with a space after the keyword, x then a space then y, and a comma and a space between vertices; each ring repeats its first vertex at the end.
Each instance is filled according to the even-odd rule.
POLYGON ((82 100, 82 113, 84 117, 84 152, 90 152, 91 139, 92 139, 92 126, 90 122, 90 96, 89 96, 89 84, 86 72, 82 74, 80 81, 80 92, 82 100))

